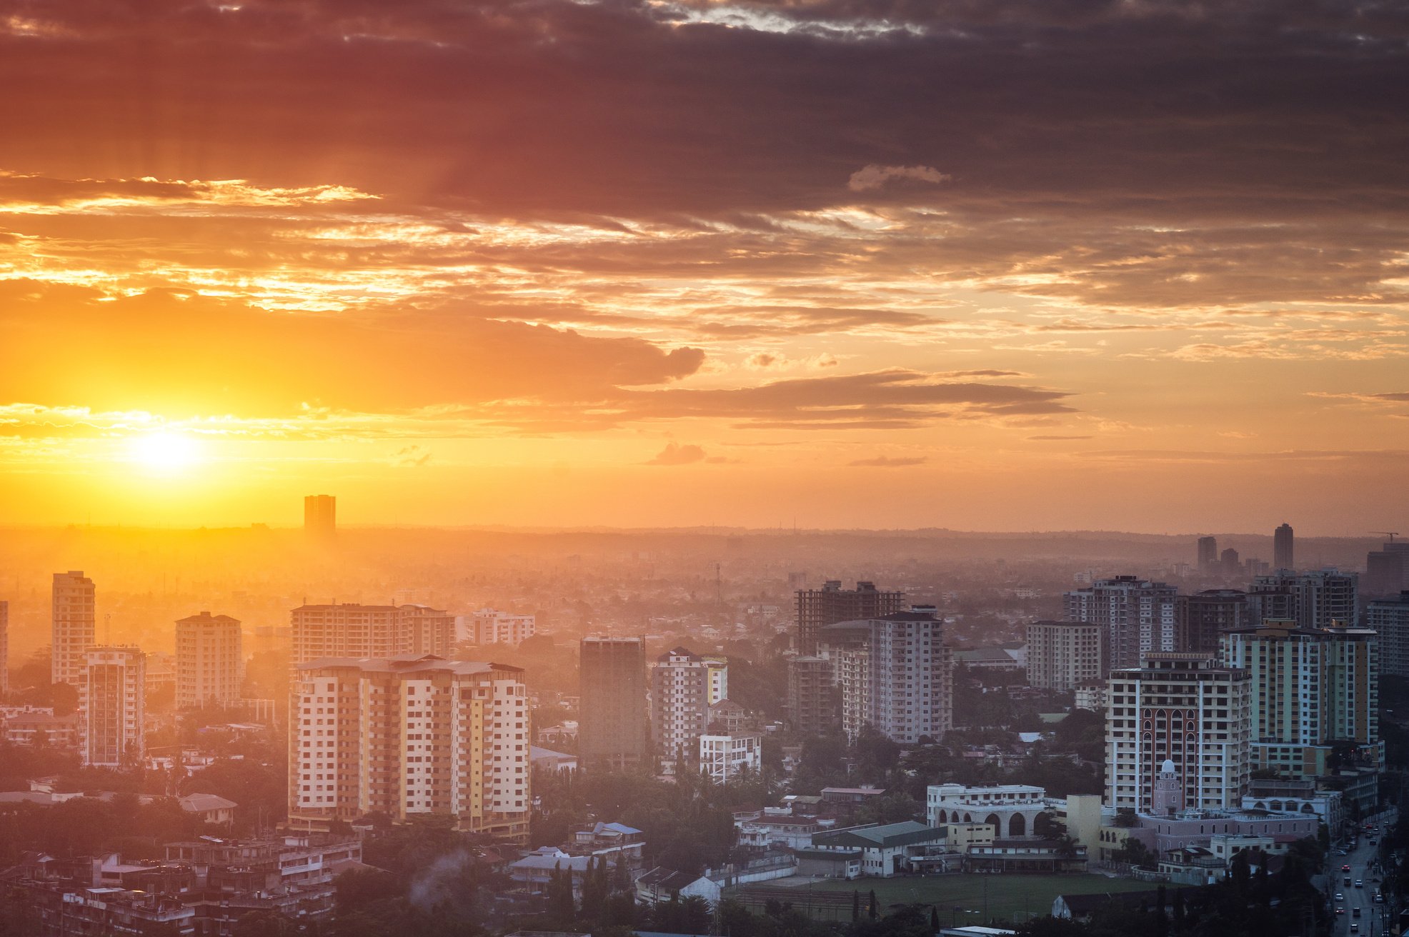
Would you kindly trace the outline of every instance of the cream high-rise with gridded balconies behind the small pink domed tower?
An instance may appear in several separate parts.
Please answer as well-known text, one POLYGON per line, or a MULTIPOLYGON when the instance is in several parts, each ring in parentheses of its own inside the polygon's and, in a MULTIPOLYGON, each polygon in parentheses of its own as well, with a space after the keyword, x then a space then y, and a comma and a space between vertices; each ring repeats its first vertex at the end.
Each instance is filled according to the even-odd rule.
POLYGON ((1110 674, 1106 690, 1106 803, 1150 813, 1182 792, 1189 809, 1241 806, 1251 774, 1251 681, 1212 654, 1147 651, 1110 674), (1171 764, 1172 762, 1172 764, 1171 764))

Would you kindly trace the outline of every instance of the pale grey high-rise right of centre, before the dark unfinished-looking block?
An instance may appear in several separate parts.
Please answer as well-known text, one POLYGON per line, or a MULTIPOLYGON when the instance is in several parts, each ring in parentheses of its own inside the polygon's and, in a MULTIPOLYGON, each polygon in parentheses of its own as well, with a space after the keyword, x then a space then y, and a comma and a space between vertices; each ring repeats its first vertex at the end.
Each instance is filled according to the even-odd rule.
POLYGON ((902 744, 941 738, 954 724, 944 621, 912 610, 851 624, 864 627, 862 640, 836 658, 847 736, 871 726, 902 744))

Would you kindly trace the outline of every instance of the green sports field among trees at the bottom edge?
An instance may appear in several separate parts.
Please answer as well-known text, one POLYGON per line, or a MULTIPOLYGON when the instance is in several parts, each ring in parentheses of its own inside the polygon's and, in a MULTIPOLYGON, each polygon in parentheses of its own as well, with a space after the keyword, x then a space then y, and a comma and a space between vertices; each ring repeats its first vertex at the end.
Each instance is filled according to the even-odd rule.
POLYGON ((731 896, 759 910, 766 898, 774 898, 792 903, 796 910, 813 917, 850 920, 851 892, 861 892, 861 907, 865 909, 868 893, 875 891, 882 913, 892 905, 937 905, 940 923, 950 926, 983 923, 985 893, 988 920, 998 922, 1041 917, 1051 912, 1053 899, 1058 895, 1141 892, 1154 888, 1157 886, 1148 882, 1103 875, 929 875, 862 878, 852 882, 785 878, 735 889, 731 896), (954 910, 955 907, 960 910, 954 910))

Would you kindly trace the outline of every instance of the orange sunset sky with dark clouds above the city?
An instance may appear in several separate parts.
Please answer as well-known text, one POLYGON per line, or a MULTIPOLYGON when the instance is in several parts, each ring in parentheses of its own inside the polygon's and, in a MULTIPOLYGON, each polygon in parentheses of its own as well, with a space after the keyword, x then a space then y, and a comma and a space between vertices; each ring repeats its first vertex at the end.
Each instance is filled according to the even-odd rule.
POLYGON ((0 87, 3 524, 1409 523, 1402 4, 46 0, 0 87))

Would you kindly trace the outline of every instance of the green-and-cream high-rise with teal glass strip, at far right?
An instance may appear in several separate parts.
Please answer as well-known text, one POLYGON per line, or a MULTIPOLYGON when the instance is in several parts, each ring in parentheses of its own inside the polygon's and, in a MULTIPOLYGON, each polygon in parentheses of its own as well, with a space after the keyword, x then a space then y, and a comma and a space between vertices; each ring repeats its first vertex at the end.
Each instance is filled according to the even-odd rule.
POLYGON ((1368 628, 1302 628, 1267 620, 1222 637, 1222 661, 1248 674, 1255 768, 1293 778, 1330 771, 1336 744, 1382 765, 1379 641, 1368 628))

